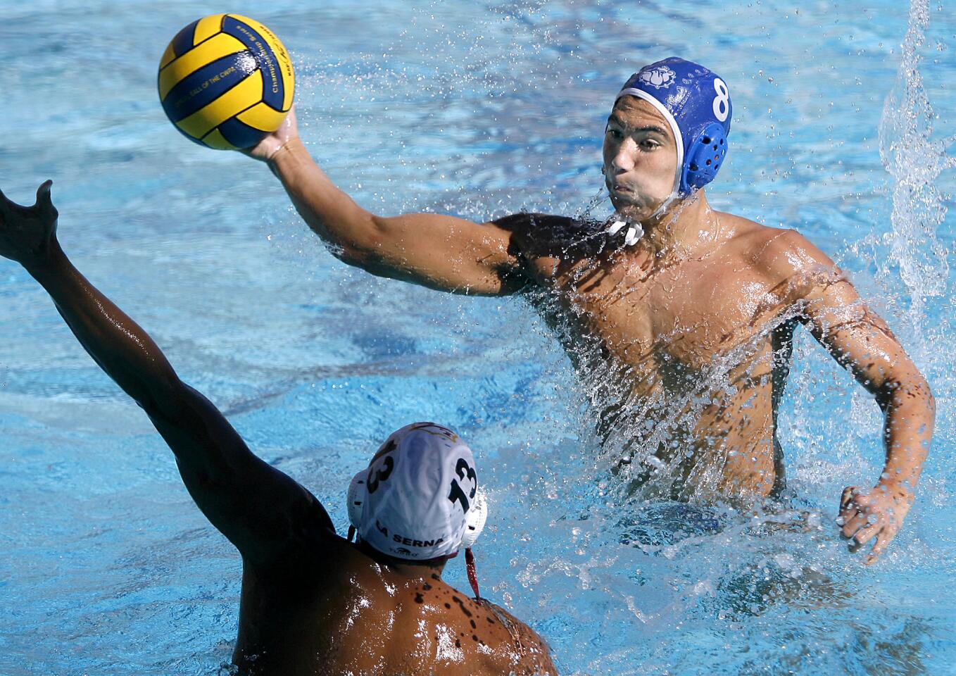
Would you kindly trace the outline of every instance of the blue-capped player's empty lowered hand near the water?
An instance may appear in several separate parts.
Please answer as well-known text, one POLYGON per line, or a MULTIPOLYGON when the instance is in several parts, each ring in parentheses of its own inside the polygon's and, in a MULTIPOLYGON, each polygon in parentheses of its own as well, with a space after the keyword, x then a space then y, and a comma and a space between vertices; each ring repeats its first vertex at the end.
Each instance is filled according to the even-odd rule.
POLYGON ((906 512, 913 504, 912 491, 891 489, 878 484, 871 491, 860 491, 856 486, 843 489, 839 501, 840 533, 851 538, 850 551, 856 552, 868 541, 877 538, 873 550, 866 557, 866 564, 876 561, 886 545, 902 527, 906 512))

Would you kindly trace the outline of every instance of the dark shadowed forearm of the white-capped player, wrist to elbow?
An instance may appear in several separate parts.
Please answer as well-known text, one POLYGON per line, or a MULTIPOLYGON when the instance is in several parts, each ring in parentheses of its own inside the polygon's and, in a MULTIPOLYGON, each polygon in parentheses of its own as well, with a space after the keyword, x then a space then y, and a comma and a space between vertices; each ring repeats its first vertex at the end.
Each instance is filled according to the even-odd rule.
POLYGON ((156 343, 76 270, 58 244, 25 267, 99 367, 147 411, 156 409, 179 382, 156 343))

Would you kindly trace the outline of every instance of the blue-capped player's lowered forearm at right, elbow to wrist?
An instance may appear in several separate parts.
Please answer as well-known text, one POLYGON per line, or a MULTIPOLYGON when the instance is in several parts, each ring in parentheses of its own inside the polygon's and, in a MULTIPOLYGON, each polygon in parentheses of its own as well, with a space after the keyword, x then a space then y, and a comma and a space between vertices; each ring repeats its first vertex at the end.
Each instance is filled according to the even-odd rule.
POLYGON ((901 383, 884 403, 886 463, 880 485, 915 491, 933 439, 936 403, 922 379, 901 383))

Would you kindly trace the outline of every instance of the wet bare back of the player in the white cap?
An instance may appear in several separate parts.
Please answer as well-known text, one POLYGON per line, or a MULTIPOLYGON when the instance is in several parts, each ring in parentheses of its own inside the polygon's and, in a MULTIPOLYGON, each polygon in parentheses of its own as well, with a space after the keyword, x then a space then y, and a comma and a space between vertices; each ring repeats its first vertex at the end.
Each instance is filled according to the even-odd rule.
POLYGON ((399 575, 341 537, 322 539, 272 570, 244 567, 240 674, 556 674, 541 639, 503 609, 431 568, 399 575))

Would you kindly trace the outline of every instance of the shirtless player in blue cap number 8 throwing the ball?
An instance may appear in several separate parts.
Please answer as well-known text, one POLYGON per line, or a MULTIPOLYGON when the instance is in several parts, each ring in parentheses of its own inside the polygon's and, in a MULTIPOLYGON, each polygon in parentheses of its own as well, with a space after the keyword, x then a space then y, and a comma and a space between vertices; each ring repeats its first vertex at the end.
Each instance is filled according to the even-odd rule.
MULTIPOLYGON (((727 84, 672 57, 631 76, 607 120, 607 224, 518 213, 489 223, 419 213, 381 217, 319 169, 294 112, 247 151, 268 162, 306 223, 346 263, 458 294, 536 289, 570 327, 579 374, 607 369, 607 438, 621 463, 677 499, 771 495, 784 484, 777 406, 802 323, 884 413, 874 488, 843 491, 842 534, 875 560, 902 526, 932 438, 934 402, 886 324, 823 252, 792 229, 707 204, 728 148, 727 84), (597 227, 596 227, 597 226, 597 227), (542 291, 543 290, 543 291, 542 291), (595 344, 595 359, 581 344, 595 344), (582 368, 583 367, 583 368, 582 368), (607 382, 614 375, 618 380, 607 382), (622 385, 622 386, 619 386, 622 385)), ((568 332, 565 332, 568 333, 568 332)), ((607 447, 607 443, 605 443, 607 447)), ((623 467, 623 465, 622 465, 623 467)))

